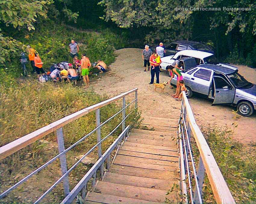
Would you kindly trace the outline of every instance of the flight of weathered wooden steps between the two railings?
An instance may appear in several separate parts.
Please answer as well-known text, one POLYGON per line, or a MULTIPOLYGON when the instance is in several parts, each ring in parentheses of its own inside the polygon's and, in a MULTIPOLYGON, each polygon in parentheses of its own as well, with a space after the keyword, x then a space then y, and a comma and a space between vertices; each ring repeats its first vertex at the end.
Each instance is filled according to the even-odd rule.
MULTIPOLYGON (((174 193, 166 195, 173 184, 178 184, 179 177, 176 122, 157 120, 161 121, 156 125, 158 131, 132 130, 119 146, 110 172, 96 182, 94 192, 87 193, 86 203, 153 204, 176 199, 174 193)), ((152 126, 150 117, 145 121, 145 125, 152 126)))

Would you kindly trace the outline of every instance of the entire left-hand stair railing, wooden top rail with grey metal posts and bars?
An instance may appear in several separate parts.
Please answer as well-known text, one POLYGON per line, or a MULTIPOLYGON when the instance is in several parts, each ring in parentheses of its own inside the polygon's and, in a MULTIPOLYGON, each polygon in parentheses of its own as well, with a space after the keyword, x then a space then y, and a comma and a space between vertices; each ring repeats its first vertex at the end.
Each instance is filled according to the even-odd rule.
MULTIPOLYGON (((87 181, 93 176, 94 177, 94 181, 96 179, 96 171, 98 169, 100 169, 100 173, 101 173, 101 177, 103 176, 103 170, 104 170, 104 162, 107 162, 107 168, 109 169, 110 167, 110 155, 111 152, 113 151, 113 149, 120 143, 121 140, 124 140, 126 137, 126 134, 128 133, 129 129, 130 129, 130 125, 125 124, 126 118, 134 111, 137 109, 137 101, 138 101, 138 95, 137 95, 137 90, 138 88, 134 88, 130 91, 127 91, 125 93, 122 93, 120 95, 117 95, 113 98, 110 98, 106 101, 102 101, 98 104, 92 105, 90 107, 84 108, 80 111, 77 111, 76 113, 70 114, 69 116, 66 116, 62 119, 59 119, 43 128, 40 128, 30 134, 27 134, 17 140, 14 140, 11 143, 6 144, 5 146, 0 147, 0 159, 4 159, 6 157, 8 157, 9 155, 17 152, 18 150, 30 145, 31 143, 35 142, 36 140, 39 140, 40 138, 46 136, 49 133, 52 133, 54 131, 56 131, 57 133, 57 141, 58 141, 58 150, 59 150, 59 154, 56 155, 55 157, 53 157, 52 159, 50 159, 48 162, 46 162, 45 164, 43 164, 41 167, 37 168, 36 170, 34 170, 32 173, 30 173, 29 175, 27 175, 26 177, 24 177, 23 179, 21 179, 19 182, 15 183, 13 186, 9 187, 7 190, 5 190, 3 193, 0 194, 0 199, 4 198, 8 193, 10 193, 12 190, 14 190, 15 188, 17 188, 20 184, 26 182, 30 177, 32 177, 33 175, 35 175, 36 173, 38 173, 39 171, 41 171, 42 169, 44 169, 45 167, 47 167, 49 164, 51 164, 52 162, 56 161, 58 158, 60 159, 60 164, 61 164, 61 172, 62 172, 62 176, 50 187, 48 188, 48 190, 45 191, 45 193, 43 193, 42 196, 40 196, 35 202, 34 204, 37 204, 39 202, 42 201, 42 199, 44 199, 44 197, 53 190, 53 188, 56 187, 56 185, 58 185, 60 182, 63 182, 63 188, 64 188, 64 195, 65 195, 65 199, 62 201, 62 203, 71 203, 73 201, 73 199, 75 198, 75 196, 77 195, 77 193, 79 193, 79 191, 81 189, 83 189, 83 195, 86 189, 86 184, 87 181), (125 102, 125 96, 129 95, 131 93, 135 93, 135 99, 133 101, 131 101, 130 104, 126 105, 125 102), (113 103, 114 101, 117 101, 119 99, 122 99, 122 109, 119 110, 117 113, 115 113, 113 116, 111 116, 110 118, 108 118, 106 121, 101 122, 100 121, 100 108, 113 103), (126 115, 126 108, 129 107, 131 104, 135 103, 134 109, 128 113, 126 115), (91 132, 89 132, 87 135, 83 136, 82 138, 80 138, 80 140, 76 141, 74 144, 72 144, 70 147, 68 147, 67 149, 65 149, 64 147, 64 136, 63 136, 63 130, 62 127, 64 125, 67 125, 68 123, 82 117, 85 116, 86 114, 94 111, 96 112, 96 128, 94 130, 92 130, 91 132), (115 116, 117 116, 118 114, 122 113, 122 121, 107 135, 105 136, 103 139, 101 139, 101 127, 103 125, 105 125, 108 121, 110 121, 111 119, 113 119, 115 116), (101 152, 101 143, 103 141, 105 141, 108 137, 110 137, 119 127, 122 127, 122 133, 119 135, 119 137, 114 141, 114 143, 107 149, 107 151, 102 155, 101 152), (97 133, 97 143, 88 151, 86 152, 86 154, 83 155, 82 158, 80 158, 75 164, 73 164, 72 167, 70 167, 70 169, 67 169, 67 161, 66 161, 66 152, 68 152, 70 149, 72 149, 73 147, 75 147, 76 145, 78 145, 79 143, 81 143, 82 141, 84 141, 87 137, 89 137, 90 135, 92 135, 94 132, 97 133), (86 175, 83 177, 83 179, 79 182, 79 184, 76 185, 76 187, 70 191, 70 186, 69 186, 69 180, 68 180, 68 175, 69 173, 87 156, 89 155, 92 151, 94 151, 95 149, 98 149, 98 161, 96 162, 96 164, 89 170, 88 173, 86 173, 86 175)), ((95 182, 94 182, 95 184, 95 182)))

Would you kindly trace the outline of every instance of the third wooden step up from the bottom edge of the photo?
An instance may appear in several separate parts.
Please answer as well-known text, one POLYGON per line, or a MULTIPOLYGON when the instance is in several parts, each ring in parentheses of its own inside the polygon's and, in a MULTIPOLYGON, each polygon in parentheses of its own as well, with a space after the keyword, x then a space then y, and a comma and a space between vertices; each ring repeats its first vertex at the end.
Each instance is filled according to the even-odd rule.
POLYGON ((128 176, 109 172, 106 172, 104 174, 102 181, 161 190, 170 190, 171 187, 173 187, 174 183, 178 184, 177 181, 175 182, 164 179, 151 179, 138 176, 128 176))

